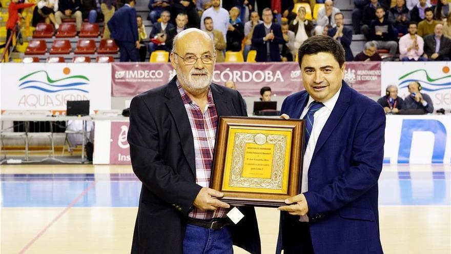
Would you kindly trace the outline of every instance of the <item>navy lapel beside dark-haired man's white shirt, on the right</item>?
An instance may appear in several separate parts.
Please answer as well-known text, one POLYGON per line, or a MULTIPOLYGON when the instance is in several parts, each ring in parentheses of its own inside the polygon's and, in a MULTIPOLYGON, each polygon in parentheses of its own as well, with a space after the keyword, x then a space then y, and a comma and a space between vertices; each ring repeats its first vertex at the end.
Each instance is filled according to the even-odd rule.
POLYGON ((351 88, 347 86, 347 84, 343 81, 342 87, 340 91, 340 95, 338 96, 337 103, 335 104, 334 109, 332 110, 329 119, 327 119, 324 127, 319 134, 318 141, 316 142, 315 151, 313 152, 312 161, 315 159, 316 154, 319 149, 324 145, 332 131, 337 127, 337 124, 340 122, 343 114, 346 112, 346 109, 349 107, 349 102, 351 100, 351 88))

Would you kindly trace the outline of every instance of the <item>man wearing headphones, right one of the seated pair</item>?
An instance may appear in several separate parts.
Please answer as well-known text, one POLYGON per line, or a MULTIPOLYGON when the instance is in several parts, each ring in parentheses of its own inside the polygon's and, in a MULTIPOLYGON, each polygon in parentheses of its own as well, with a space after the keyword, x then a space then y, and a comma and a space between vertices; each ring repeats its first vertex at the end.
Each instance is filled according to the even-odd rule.
POLYGON ((409 95, 404 99, 404 109, 423 109, 426 113, 434 112, 434 105, 429 95, 421 93, 421 84, 417 81, 408 84, 409 95))

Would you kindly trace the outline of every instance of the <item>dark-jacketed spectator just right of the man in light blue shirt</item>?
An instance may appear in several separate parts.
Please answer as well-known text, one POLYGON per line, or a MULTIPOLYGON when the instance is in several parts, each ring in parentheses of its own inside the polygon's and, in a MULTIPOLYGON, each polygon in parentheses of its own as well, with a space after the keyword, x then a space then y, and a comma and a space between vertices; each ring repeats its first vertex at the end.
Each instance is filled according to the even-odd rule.
POLYGON ((226 34, 226 50, 238 52, 241 51, 241 42, 244 38, 244 25, 239 18, 239 9, 237 7, 232 7, 229 13, 230 23, 226 34))

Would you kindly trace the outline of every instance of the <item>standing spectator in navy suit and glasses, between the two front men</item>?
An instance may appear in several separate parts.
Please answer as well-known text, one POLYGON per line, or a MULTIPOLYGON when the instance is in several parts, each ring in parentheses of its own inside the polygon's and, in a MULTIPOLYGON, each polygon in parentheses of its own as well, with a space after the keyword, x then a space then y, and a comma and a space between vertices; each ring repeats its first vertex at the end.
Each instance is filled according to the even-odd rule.
POLYGON ((263 10, 263 23, 254 28, 252 46, 257 48, 256 62, 280 62, 279 45, 285 44, 282 28, 273 23, 273 12, 270 8, 263 10))

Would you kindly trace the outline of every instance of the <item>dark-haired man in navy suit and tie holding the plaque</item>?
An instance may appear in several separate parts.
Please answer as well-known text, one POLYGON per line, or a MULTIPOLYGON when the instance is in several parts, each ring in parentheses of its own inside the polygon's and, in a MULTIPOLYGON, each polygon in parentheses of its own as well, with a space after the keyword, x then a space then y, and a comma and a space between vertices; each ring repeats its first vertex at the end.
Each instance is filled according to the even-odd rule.
POLYGON ((281 113, 306 120, 301 194, 279 207, 278 250, 382 253, 384 110, 343 81, 344 50, 330 36, 308 38, 298 54, 305 90, 286 97, 281 113))

